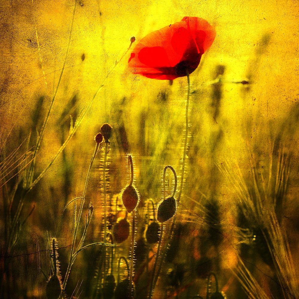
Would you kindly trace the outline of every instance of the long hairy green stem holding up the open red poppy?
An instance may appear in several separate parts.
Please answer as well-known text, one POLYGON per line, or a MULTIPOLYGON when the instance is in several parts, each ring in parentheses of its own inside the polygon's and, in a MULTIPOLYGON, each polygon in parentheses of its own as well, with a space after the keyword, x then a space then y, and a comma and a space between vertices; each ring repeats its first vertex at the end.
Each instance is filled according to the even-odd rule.
MULTIPOLYGON (((189 77, 189 72, 188 70, 186 70, 186 75, 187 75, 187 84, 188 84, 188 90, 187 90, 187 103, 186 103, 186 131, 185 131, 185 139, 184 139, 184 152, 183 152, 183 163, 182 163, 182 173, 181 173, 181 183, 180 183, 180 190, 179 190, 179 195, 178 195, 178 205, 180 203, 181 200, 181 195, 182 195, 182 190, 183 190, 183 184, 184 184, 184 172, 185 172, 185 163, 186 163, 186 154, 187 154, 187 143, 188 143, 188 132, 189 132, 189 117, 188 117, 188 112, 189 112, 189 98, 190 98, 190 77, 189 77)), ((168 238, 167 238, 167 244, 165 245, 164 249, 163 249, 163 253, 162 253, 162 257, 161 257, 161 261, 164 260, 165 254, 167 252, 168 249, 168 244, 172 238, 172 234, 173 234, 173 229, 174 229, 174 225, 176 223, 176 216, 173 216, 173 221, 172 221, 172 225, 168 234, 168 238)), ((159 269, 158 272, 155 276, 155 280, 154 280, 154 288, 155 285, 157 283, 160 271, 162 268, 162 262, 159 265, 159 269)))

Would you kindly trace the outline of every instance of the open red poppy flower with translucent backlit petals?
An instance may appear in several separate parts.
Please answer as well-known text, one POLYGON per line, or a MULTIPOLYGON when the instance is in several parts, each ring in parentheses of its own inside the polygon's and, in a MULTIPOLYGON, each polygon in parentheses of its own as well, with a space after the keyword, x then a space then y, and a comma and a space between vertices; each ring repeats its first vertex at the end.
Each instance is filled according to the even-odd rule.
POLYGON ((215 29, 204 19, 184 17, 181 22, 153 31, 136 45, 129 59, 134 74, 173 80, 191 74, 212 45, 215 29))

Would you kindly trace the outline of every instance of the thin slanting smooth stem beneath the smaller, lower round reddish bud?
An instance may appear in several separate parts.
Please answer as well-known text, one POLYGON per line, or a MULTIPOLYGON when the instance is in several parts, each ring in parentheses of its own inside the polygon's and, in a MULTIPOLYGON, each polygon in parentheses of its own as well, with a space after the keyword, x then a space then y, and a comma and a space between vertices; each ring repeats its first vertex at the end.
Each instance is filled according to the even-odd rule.
MULTIPOLYGON (((84 204, 84 201, 85 201, 85 193, 86 193, 86 188, 87 188, 87 183, 88 183, 88 179, 89 179, 91 167, 92 167, 92 164, 94 162, 94 158, 97 155, 97 152, 98 152, 98 149, 99 149, 99 145, 100 145, 99 143, 96 144, 95 149, 94 149, 94 154, 91 157, 89 169, 88 169, 86 180, 85 180, 85 186, 84 186, 84 190, 83 190, 83 195, 82 195, 82 199, 81 199, 81 204, 80 204, 80 209, 79 209, 78 217, 76 218, 76 215, 75 215, 76 224, 75 224, 74 237, 73 237, 73 242, 72 242, 72 247, 71 247, 70 261, 68 263, 68 269, 66 270, 65 278, 64 278, 64 281, 63 281, 62 292, 65 289, 65 285, 66 285, 66 282, 68 280, 68 275, 70 274, 70 271, 71 271, 71 266, 74 263, 75 257, 77 256, 76 253, 74 254, 74 248, 75 248, 75 243, 76 243, 77 231, 78 231, 79 222, 80 222, 80 218, 81 218, 81 214, 82 214, 83 204, 84 204)), ((83 236, 82 236, 82 238, 83 238, 83 236)))

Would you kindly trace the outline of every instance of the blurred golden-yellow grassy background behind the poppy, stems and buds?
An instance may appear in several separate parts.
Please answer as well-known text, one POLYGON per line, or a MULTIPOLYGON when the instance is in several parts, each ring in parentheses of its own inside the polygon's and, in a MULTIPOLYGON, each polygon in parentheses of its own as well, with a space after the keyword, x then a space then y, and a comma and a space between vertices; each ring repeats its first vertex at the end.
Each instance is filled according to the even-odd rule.
MULTIPOLYGON (((177 22, 185 15, 207 19, 216 27, 217 36, 199 68, 190 76, 191 134, 184 197, 154 298, 166 298, 178 290, 179 298, 192 298, 196 294, 205 297, 206 282, 199 275, 205 267, 198 266, 202 258, 209 261, 207 271, 217 274, 220 289, 225 290, 228 298, 246 298, 246 292, 231 271, 237 273, 243 269, 238 255, 263 289, 260 297, 253 292, 252 298, 265 298, 264 293, 268 298, 271 293, 274 298, 282 298, 283 294, 293 298, 289 294, 295 296, 298 292, 294 290, 298 285, 294 273, 298 271, 299 258, 297 2, 97 0, 80 3, 75 12, 66 67, 37 155, 35 178, 67 138, 70 115, 75 122, 115 61, 128 48, 131 36, 138 42, 152 30, 177 22), (219 76, 221 81, 211 84, 219 76), (233 83, 242 80, 248 80, 249 84, 233 83), (274 212, 279 229, 286 231, 286 236, 283 241, 273 240, 274 236, 271 240, 271 231, 269 234, 266 226, 259 235, 261 238, 264 234, 264 244, 255 245, 260 243, 252 241, 252 224, 244 217, 242 220, 235 190, 230 185, 234 165, 238 165, 249 194, 257 194, 252 169, 259 182, 257 189, 262 191, 262 174, 265 177, 272 171, 273 183, 282 157, 288 160, 289 175, 288 181, 286 176, 279 180, 283 188, 288 188, 278 196, 279 207, 274 212), (223 176, 219 169, 227 161, 233 170, 223 176), (248 234, 241 234, 240 228, 248 228, 248 234), (269 241, 274 242, 270 245, 272 251, 269 241), (266 259, 259 253, 262 246, 267 252, 266 259), (277 263, 280 259, 277 248, 281 246, 289 246, 285 250, 289 250, 294 269, 277 263), (271 261, 270 265, 267 260, 271 261), (284 274, 292 276, 288 278, 291 286, 285 285, 284 274)), ((74 3, 68 1, 6 1, 3 4, 1 163, 21 146, 4 164, 1 178, 22 161, 25 152, 30 155, 36 144, 64 63, 73 9, 74 3)), ((21 222, 34 205, 35 209, 13 250, 8 254, 1 249, 3 298, 45 298, 46 277, 51 268, 47 233, 58 240, 60 270, 65 274, 73 212, 67 209, 62 213, 62 210, 67 202, 82 194, 94 148, 93 138, 102 123, 109 122, 113 127, 109 152, 111 196, 120 193, 126 184, 126 153, 135 157, 136 186, 142 203, 150 198, 155 203, 159 201, 165 165, 172 165, 180 173, 187 79, 178 78, 170 85, 168 81, 134 76, 129 73, 126 62, 127 57, 110 73, 67 147, 25 197, 21 222)), ((86 202, 91 200, 94 204, 94 218, 86 236, 90 242, 101 238, 103 226, 101 155, 94 162, 86 194, 86 202)), ((1 188, 1 248, 5 247, 8 219, 14 215, 24 192, 22 178, 26 168, 20 169, 21 166, 9 173, 8 178, 16 176, 1 188), (13 194, 15 200, 10 205, 13 194)), ((240 184, 241 179, 237 181, 240 184)), ((272 198, 273 191, 268 196, 272 198)), ((84 215, 86 211, 87 207, 84 215)), ((141 223, 146 219, 145 209, 140 208, 138 212, 137 240, 142 237, 141 223)), ((124 242, 115 256, 127 256, 129 249, 129 243, 124 242)), ((89 247, 78 255, 66 287, 68 296, 77 286, 80 298, 91 298, 101 250, 89 247)), ((147 250, 151 256, 151 248, 147 250)), ((152 250, 156 250, 155 246, 152 250)), ((151 271, 153 263, 149 262, 148 267, 151 271)), ((145 273, 136 282, 137 298, 146 298, 145 273)), ((249 280, 246 284, 244 277, 248 286, 249 280)))

